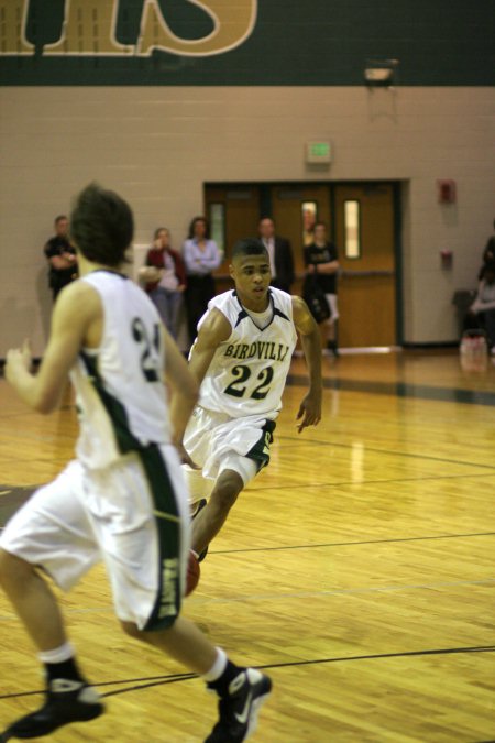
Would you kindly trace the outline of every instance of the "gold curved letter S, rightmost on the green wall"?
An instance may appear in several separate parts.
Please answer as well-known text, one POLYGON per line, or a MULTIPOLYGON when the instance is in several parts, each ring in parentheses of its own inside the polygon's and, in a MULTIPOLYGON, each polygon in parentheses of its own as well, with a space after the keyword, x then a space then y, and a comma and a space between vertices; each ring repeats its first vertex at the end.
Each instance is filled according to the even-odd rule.
POLYGON ((251 34, 256 20, 257 0, 187 0, 205 10, 213 21, 213 31, 204 39, 176 36, 167 25, 157 0, 145 0, 141 19, 138 54, 148 56, 153 50, 180 56, 209 56, 229 52, 251 34))

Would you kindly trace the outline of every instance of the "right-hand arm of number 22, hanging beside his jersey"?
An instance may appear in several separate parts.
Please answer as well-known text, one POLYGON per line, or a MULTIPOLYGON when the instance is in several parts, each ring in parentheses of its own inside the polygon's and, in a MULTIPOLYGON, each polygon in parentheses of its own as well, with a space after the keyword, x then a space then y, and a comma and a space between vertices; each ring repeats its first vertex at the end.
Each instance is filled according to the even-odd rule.
POLYGON ((309 392, 302 400, 297 419, 299 434, 307 426, 317 426, 321 419, 321 338, 320 329, 315 323, 308 305, 304 299, 293 296, 294 324, 300 335, 302 350, 309 371, 309 392))

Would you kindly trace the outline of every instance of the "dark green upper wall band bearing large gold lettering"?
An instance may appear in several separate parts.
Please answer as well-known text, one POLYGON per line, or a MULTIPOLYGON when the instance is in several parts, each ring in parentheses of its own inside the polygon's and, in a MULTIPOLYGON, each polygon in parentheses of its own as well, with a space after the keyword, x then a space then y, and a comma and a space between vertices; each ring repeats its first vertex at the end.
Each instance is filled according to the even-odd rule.
POLYGON ((495 0, 0 0, 0 85, 490 86, 494 39, 495 0))

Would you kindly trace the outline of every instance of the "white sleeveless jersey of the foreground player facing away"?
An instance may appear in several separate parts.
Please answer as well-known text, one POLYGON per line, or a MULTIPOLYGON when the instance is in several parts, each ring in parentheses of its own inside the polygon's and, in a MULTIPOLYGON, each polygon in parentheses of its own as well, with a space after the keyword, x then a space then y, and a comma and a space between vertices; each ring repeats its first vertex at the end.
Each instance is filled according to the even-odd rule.
POLYGON ((132 281, 95 271, 79 281, 100 295, 103 328, 98 349, 81 349, 70 379, 80 434, 78 459, 99 469, 148 444, 167 444, 164 348, 155 306, 132 281))

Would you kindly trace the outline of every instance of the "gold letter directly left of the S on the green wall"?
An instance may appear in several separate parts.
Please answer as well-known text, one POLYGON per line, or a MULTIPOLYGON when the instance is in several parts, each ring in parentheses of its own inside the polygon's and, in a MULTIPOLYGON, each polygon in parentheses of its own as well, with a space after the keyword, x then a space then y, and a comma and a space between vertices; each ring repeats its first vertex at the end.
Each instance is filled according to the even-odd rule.
POLYGON ((119 55, 134 51, 116 39, 118 0, 65 0, 61 39, 46 44, 43 55, 119 55))

